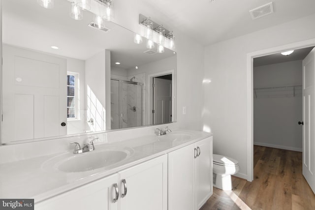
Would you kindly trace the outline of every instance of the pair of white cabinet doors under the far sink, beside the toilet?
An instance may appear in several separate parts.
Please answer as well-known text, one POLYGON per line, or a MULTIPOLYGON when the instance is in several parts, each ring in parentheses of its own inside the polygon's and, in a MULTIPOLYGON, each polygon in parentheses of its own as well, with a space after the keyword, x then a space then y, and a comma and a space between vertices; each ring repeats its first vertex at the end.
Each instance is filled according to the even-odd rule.
POLYGON ((199 210, 213 193, 212 137, 168 153, 169 210, 199 210))

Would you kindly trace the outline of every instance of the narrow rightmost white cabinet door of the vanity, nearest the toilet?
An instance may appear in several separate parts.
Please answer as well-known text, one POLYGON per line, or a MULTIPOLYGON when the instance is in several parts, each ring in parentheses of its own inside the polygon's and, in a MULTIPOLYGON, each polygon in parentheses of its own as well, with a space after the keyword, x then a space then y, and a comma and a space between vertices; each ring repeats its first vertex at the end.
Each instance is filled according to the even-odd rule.
POLYGON ((196 209, 199 210, 213 193, 212 174, 212 137, 196 143, 198 157, 196 158, 196 209))

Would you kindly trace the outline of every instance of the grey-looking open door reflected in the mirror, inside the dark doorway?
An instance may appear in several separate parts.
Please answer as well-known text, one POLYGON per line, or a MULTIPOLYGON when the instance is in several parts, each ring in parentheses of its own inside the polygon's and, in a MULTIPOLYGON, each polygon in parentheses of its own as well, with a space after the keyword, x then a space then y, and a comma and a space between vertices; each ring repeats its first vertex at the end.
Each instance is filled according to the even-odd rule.
POLYGON ((172 80, 153 78, 153 123, 172 121, 172 80))

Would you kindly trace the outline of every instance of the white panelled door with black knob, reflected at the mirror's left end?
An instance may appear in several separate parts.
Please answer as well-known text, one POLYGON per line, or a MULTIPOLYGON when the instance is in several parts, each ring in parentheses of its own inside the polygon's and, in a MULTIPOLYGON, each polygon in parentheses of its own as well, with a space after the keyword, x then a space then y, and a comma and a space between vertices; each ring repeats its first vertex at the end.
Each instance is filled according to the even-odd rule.
POLYGON ((66 135, 66 60, 2 49, 3 143, 66 135))

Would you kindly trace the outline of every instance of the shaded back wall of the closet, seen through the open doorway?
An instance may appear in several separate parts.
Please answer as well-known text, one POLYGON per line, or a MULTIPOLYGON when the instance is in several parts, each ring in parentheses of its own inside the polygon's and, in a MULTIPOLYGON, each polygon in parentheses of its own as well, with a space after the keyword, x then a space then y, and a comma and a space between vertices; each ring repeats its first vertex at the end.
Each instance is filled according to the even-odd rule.
MULTIPOLYGON (((271 88, 302 85, 302 60, 256 66, 253 87, 271 88)), ((275 90, 275 89, 274 89, 275 90)), ((302 89, 278 91, 278 96, 254 97, 254 145, 302 151, 302 89)), ((272 92, 271 92, 272 94, 272 92)))

